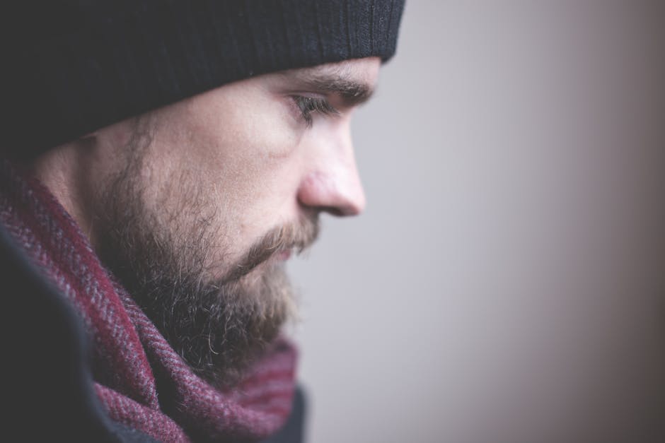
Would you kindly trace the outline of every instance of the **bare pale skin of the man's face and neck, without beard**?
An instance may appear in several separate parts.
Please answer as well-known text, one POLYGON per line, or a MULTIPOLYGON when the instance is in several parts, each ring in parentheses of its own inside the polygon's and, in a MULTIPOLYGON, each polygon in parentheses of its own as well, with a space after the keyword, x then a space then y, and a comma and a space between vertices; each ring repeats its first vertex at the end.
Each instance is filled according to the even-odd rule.
MULTIPOLYGON (((187 217, 178 211, 191 197, 182 181, 195 180, 207 190, 214 224, 224 226, 211 263, 236 261, 269 230, 303 217, 361 213, 365 197, 349 125, 374 88, 379 66, 372 57, 271 73, 151 112, 153 138, 140 172, 144 204, 155 213, 187 217), (334 90, 337 83, 357 85, 363 93, 349 98, 348 90, 334 90), (308 122, 295 96, 328 100, 337 112, 314 110, 308 122)), ((96 223, 96 199, 124 167, 122 150, 135 127, 135 119, 107 126, 33 164, 34 175, 93 247, 104 235, 96 223)), ((228 271, 218 267, 211 277, 228 271)))

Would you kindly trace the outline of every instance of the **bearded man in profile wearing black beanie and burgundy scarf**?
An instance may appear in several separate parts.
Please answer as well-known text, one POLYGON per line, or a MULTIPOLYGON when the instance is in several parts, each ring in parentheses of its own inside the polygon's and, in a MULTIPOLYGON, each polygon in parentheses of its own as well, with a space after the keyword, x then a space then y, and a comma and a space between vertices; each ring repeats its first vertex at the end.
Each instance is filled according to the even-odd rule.
MULTIPOLYGON (((294 402, 284 262, 320 213, 362 211, 349 121, 402 2, 54 3, 4 15, 22 439, 273 435, 294 402)), ((276 438, 299 441, 295 412, 276 438)))

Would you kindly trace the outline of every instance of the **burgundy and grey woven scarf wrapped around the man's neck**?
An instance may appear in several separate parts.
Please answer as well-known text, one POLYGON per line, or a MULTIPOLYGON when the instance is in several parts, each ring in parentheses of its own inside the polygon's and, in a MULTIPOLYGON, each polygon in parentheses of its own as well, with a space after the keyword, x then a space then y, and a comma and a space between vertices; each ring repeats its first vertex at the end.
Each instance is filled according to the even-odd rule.
POLYGON ((296 351, 283 338, 235 388, 214 389, 115 283, 54 196, 4 161, 0 223, 80 314, 93 343, 94 389, 112 420, 163 442, 251 442, 284 423, 296 351))

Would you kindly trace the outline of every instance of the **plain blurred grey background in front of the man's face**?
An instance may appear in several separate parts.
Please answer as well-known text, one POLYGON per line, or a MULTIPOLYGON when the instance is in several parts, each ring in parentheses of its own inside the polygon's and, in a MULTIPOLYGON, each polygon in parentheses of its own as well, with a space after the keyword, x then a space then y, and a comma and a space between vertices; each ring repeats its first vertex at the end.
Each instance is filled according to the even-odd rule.
POLYGON ((407 0, 291 264, 308 442, 665 442, 665 4, 407 0))

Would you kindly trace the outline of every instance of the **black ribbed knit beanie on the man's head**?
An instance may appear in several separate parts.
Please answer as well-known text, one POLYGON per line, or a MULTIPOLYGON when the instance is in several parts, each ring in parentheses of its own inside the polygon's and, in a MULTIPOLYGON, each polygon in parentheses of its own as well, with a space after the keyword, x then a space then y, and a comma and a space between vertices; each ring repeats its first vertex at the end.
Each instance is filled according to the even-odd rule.
POLYGON ((3 11, 2 150, 33 155, 260 73, 385 61, 403 1, 16 2, 3 11))

